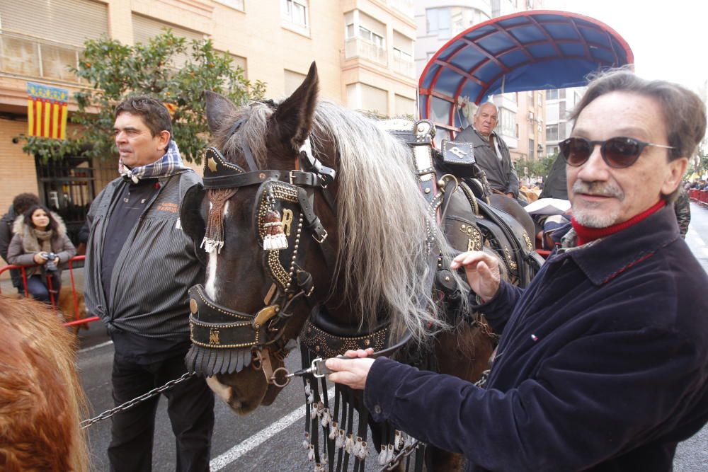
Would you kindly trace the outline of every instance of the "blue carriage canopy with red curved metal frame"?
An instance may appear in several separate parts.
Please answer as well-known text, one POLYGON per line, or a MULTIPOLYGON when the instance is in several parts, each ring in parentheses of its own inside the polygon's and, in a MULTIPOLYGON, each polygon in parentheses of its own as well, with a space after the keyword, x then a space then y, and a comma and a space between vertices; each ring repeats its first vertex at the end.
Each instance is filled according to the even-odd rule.
POLYGON ((591 72, 632 64, 609 26, 566 11, 523 11, 474 25, 435 53, 418 82, 422 118, 459 131, 459 97, 584 86, 591 72))

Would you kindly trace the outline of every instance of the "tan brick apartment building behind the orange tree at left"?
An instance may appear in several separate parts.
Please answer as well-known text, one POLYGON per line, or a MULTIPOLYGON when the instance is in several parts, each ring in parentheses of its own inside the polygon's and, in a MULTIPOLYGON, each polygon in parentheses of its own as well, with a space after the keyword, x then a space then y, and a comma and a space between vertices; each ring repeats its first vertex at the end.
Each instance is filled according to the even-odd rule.
MULTIPOLYGON (((76 66, 86 39, 127 45, 171 28, 210 38, 267 96, 292 93, 316 61, 320 96, 381 115, 416 113, 413 0, 0 0, 0 212, 36 192, 70 232, 117 174, 115 156, 43 163, 13 137, 27 129, 27 81, 86 87, 76 66)), ((69 115, 76 103, 69 103, 69 115)), ((176 137, 179 141, 179 137, 176 137)))

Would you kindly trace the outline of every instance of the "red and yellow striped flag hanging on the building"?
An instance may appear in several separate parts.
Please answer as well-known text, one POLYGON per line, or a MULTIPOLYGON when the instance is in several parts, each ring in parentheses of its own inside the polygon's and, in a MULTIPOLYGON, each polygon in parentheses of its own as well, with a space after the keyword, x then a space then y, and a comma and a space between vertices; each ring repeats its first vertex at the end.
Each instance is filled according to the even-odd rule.
POLYGON ((69 91, 43 84, 27 83, 27 134, 67 139, 69 91))

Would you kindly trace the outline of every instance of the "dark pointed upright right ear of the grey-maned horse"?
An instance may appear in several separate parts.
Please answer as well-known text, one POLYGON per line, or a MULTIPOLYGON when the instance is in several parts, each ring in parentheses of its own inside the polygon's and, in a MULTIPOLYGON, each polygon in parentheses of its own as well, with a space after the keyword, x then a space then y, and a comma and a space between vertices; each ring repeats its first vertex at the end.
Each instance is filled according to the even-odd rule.
POLYGON ((274 129, 280 141, 290 142, 293 149, 299 149, 312 131, 318 88, 317 67, 313 62, 302 84, 275 110, 274 129))

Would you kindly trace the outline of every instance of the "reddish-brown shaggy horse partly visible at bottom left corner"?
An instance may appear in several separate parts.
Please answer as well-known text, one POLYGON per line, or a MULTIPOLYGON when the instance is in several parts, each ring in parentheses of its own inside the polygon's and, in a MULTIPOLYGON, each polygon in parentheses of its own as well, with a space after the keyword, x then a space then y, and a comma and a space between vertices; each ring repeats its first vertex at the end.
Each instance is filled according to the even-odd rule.
POLYGON ((45 304, 0 296, 0 464, 89 471, 76 338, 45 304))

